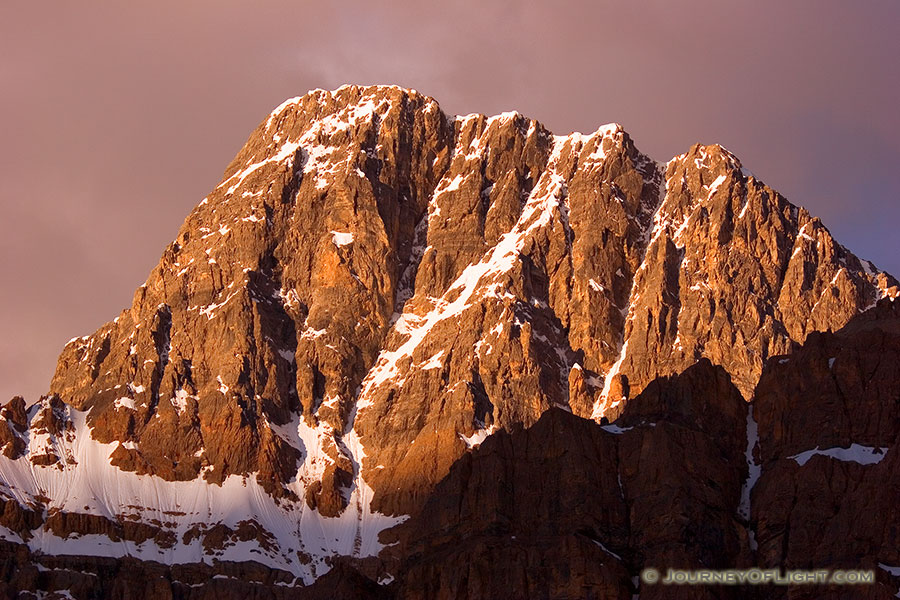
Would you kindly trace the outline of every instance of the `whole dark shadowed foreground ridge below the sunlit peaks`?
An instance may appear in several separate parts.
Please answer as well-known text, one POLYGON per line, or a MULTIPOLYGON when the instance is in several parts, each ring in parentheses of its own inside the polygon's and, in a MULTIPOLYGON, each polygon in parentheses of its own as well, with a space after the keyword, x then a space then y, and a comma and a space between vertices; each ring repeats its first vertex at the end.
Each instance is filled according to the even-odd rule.
POLYGON ((400 565, 398 597, 893 597, 898 324, 900 302, 882 301, 809 336, 767 365, 750 405, 701 360, 651 382, 614 424, 553 409, 489 437, 386 534, 400 542, 383 553, 400 565), (636 590, 633 579, 754 566, 873 569, 876 582, 636 590))

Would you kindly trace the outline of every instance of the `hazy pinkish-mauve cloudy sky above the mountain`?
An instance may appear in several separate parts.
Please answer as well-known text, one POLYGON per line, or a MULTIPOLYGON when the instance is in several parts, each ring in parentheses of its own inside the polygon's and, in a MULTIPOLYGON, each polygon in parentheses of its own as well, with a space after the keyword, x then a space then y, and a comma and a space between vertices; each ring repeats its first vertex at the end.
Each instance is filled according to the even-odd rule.
POLYGON ((900 274, 895 0, 133 4, 0 6, 0 401, 131 303, 273 107, 343 83, 721 143, 900 274))

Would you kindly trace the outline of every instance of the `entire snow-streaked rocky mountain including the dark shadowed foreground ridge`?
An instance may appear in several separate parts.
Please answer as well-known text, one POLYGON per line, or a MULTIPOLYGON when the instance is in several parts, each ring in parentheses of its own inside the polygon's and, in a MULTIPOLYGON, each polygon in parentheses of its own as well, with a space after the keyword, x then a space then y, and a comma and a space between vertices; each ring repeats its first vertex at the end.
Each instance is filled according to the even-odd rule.
POLYGON ((0 595, 889 598, 898 296, 721 146, 316 90, 0 408, 0 595), (754 566, 876 581, 638 577, 754 566))

